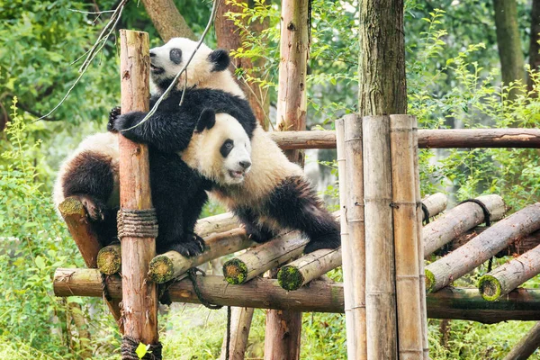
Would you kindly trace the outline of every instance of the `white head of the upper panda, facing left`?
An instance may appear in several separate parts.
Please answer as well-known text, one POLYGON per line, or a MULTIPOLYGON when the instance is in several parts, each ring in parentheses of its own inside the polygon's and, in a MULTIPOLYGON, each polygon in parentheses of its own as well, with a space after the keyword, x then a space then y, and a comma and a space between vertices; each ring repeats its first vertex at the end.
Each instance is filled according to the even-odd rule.
MULTIPOLYGON (((186 38, 173 38, 160 47, 150 49, 150 78, 158 94, 163 93, 176 74, 191 58, 197 42, 186 38)), ((195 51, 187 71, 178 78, 177 89, 219 89, 245 97, 229 72, 229 53, 224 49, 212 50, 204 44, 195 51)))

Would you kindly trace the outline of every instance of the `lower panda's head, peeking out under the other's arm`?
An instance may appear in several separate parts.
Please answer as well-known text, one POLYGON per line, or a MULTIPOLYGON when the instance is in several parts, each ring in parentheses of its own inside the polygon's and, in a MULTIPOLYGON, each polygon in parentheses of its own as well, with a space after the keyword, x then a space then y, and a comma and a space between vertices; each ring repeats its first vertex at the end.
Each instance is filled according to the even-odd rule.
POLYGON ((192 141, 198 171, 218 184, 241 184, 251 169, 251 141, 240 123, 227 113, 205 109, 192 141))

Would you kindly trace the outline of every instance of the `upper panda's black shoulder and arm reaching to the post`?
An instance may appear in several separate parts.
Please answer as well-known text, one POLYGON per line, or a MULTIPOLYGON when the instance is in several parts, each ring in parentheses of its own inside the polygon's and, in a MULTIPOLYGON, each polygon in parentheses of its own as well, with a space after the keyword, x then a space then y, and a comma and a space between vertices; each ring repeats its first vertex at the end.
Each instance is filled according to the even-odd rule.
MULTIPOLYGON (((157 98, 152 96, 150 107, 157 98)), ((228 113, 242 125, 249 139, 253 136, 257 119, 247 100, 213 89, 185 90, 184 102, 179 106, 181 98, 181 91, 173 91, 148 121, 139 124, 147 112, 127 112, 114 120, 109 129, 121 131, 126 138, 150 144, 160 151, 180 152, 187 148, 199 117, 208 108, 215 113, 228 113), (130 129, 136 124, 139 126, 130 129)))

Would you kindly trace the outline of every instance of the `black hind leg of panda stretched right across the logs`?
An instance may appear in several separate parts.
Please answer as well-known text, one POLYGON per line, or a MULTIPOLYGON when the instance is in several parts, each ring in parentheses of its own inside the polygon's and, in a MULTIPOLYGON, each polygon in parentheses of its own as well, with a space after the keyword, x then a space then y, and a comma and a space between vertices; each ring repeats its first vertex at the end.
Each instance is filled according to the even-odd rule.
POLYGON ((341 245, 338 221, 301 176, 286 178, 270 194, 266 210, 284 228, 299 229, 310 238, 304 252, 341 245))

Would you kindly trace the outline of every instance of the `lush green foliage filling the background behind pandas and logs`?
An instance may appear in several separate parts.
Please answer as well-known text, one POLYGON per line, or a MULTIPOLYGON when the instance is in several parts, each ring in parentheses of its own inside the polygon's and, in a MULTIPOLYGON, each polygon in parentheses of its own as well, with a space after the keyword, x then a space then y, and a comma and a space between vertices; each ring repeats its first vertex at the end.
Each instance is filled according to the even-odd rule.
MULTIPOLYGON (((210 3, 175 3, 193 31, 201 33, 210 3)), ((80 63, 72 63, 92 46, 108 18, 108 14, 80 11, 95 11, 95 5, 107 10, 113 4, 116 2, 0 2, 0 38, 4 40, 0 49, 0 118, 9 117, 7 129, 0 133, 0 356, 4 358, 80 358, 72 313, 67 311, 66 300, 53 296, 51 276, 57 267, 84 264, 55 214, 50 193, 61 158, 86 134, 104 130, 106 114, 118 103, 115 40, 107 43, 81 84, 52 114, 49 120, 54 121, 33 121, 66 93, 78 75, 80 63)), ((257 64, 263 64, 264 76, 242 75, 268 88, 274 101, 280 8, 275 2, 255 4, 246 14, 230 14, 231 21, 238 22, 241 16, 252 22, 269 17, 270 27, 262 34, 245 28, 242 48, 232 53, 261 61, 257 64)), ((538 126, 536 88, 527 93, 525 85, 510 85, 522 91, 509 102, 509 87, 500 85, 491 2, 446 0, 437 3, 442 10, 427 0, 409 0, 406 5, 409 111, 418 116, 423 128, 538 126)), ((313 0, 308 79, 311 127, 332 129, 334 119, 356 110, 356 6, 354 1, 313 0)), ((528 43, 529 13, 530 2, 519 1, 524 44, 528 43)), ((160 42, 137 2, 127 6, 120 27, 148 31, 153 44, 160 42)), ((213 34, 207 43, 215 44, 213 34)), ((538 85, 538 74, 530 72, 530 76, 538 85)), ((500 193, 511 211, 540 200, 537 150, 425 150, 420 160, 423 193, 443 191, 453 202, 500 193)), ((327 165, 332 164, 329 161, 327 165)), ((336 185, 329 185, 329 193, 336 194, 336 189, 336 185)), ((212 211, 215 209, 210 207, 207 213, 212 211)), ((473 286, 474 279, 485 271, 481 267, 460 282, 473 286)), ((340 271, 331 276, 339 281, 340 271)), ((538 279, 527 286, 537 287, 538 279)), ((69 302, 82 306, 94 358, 119 358, 120 336, 103 302, 86 298, 70 298, 69 302)), ((217 358, 224 321, 223 311, 200 307, 177 305, 163 311, 160 326, 166 358, 217 358)), ((264 323, 265 311, 256 311, 250 358, 263 354, 264 323)), ((431 356, 502 358, 531 325, 430 320, 431 356)), ((304 314, 302 358, 346 358, 344 327, 344 317, 339 314, 304 314)))

